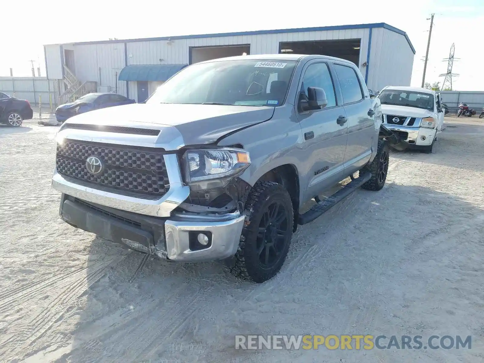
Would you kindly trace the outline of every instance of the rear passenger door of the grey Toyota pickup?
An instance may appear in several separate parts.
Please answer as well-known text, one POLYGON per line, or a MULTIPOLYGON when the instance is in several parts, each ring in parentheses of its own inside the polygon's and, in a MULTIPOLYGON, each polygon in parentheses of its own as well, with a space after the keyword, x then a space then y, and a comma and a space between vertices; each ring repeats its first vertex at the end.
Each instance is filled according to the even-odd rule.
POLYGON ((333 65, 348 117, 348 145, 344 165, 347 173, 354 173, 368 162, 374 138, 378 137, 375 131, 375 110, 372 109, 361 74, 358 75, 355 67, 338 62, 333 62, 333 65))

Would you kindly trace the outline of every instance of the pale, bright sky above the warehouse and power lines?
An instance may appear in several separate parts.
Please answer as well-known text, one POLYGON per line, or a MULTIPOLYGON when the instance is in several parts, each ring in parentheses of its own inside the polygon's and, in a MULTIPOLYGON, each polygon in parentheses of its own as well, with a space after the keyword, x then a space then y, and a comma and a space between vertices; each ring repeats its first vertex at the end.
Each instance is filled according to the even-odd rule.
MULTIPOLYGON (((230 31, 304 28, 385 22, 404 30, 414 45, 412 86, 420 86, 431 13, 434 29, 426 81, 442 83, 443 58, 455 43, 454 89, 484 90, 484 1, 7 1, 2 4, 0 76, 29 76, 30 60, 40 62, 45 75, 42 45, 108 38, 142 38, 230 31), (287 5, 285 5, 287 4, 287 5), (290 4, 290 5, 289 5, 290 4), (29 11, 26 11, 29 9, 29 11), (297 16, 293 16, 296 15, 297 16)), ((37 67, 37 63, 35 67, 37 67)))

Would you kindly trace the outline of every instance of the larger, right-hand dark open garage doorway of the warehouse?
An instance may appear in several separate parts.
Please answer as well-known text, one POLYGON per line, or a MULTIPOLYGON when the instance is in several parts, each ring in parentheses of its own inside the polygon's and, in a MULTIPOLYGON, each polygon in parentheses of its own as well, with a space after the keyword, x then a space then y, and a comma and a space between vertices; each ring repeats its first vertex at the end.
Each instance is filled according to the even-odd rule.
POLYGON ((361 39, 312 40, 304 42, 280 42, 279 53, 283 54, 320 54, 360 62, 361 39))

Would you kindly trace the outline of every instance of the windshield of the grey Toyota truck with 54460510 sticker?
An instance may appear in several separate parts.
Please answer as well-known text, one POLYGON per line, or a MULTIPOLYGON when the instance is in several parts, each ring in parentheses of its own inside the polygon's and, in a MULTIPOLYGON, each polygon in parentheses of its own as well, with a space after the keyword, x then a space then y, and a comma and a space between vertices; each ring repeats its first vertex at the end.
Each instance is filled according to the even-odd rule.
POLYGON ((281 106, 296 63, 236 60, 194 64, 161 85, 146 103, 281 106))

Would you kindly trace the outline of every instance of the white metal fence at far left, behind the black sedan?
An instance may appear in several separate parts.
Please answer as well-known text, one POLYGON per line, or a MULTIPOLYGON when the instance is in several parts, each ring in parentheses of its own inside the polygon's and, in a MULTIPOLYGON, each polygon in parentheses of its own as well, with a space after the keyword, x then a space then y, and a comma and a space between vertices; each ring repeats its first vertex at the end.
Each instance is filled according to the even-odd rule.
POLYGON ((0 92, 28 100, 32 106, 39 106, 39 96, 42 106, 56 106, 58 99, 58 80, 46 77, 0 77, 0 92), (50 86, 50 93, 49 93, 50 86))

